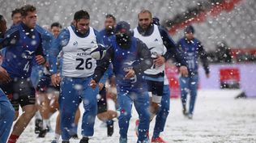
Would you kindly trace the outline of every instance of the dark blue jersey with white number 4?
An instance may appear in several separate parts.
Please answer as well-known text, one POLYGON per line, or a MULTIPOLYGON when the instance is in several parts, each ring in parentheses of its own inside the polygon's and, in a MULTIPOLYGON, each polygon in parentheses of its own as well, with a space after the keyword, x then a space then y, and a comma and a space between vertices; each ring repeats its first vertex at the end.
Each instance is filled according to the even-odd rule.
POLYGON ((36 55, 43 55, 41 34, 19 23, 6 32, 1 44, 6 47, 2 67, 11 78, 29 78, 36 55))

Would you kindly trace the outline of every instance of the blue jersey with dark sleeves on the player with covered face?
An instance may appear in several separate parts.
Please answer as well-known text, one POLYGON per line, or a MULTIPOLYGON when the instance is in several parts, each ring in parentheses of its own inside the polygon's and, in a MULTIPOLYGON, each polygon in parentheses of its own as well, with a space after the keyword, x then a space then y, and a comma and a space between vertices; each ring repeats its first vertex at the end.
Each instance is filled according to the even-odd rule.
POLYGON ((116 76, 117 87, 123 90, 146 91, 147 83, 143 71, 152 65, 151 53, 146 44, 137 38, 131 37, 130 45, 127 48, 120 47, 116 37, 111 38, 105 57, 97 65, 93 79, 100 81, 109 62, 113 64, 113 74, 116 76), (126 79, 128 69, 134 69, 134 78, 126 79))

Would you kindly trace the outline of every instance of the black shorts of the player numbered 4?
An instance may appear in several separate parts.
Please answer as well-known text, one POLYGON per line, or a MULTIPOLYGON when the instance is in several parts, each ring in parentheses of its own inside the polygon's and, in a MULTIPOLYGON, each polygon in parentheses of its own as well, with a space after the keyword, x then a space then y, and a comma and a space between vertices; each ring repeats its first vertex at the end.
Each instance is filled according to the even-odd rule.
POLYGON ((7 95, 15 111, 19 111, 19 105, 23 107, 36 103, 36 90, 32 86, 30 78, 14 78, 9 83, 1 84, 0 87, 7 95))

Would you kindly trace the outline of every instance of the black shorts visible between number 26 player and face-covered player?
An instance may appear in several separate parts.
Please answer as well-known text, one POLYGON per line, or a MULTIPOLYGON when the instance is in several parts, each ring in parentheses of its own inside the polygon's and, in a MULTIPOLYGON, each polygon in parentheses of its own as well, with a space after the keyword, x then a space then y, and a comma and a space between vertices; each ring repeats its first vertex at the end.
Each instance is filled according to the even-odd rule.
POLYGON ((105 86, 103 86, 103 88, 102 88, 102 90, 100 90, 99 94, 100 94, 100 98, 97 100, 97 105, 98 105, 97 114, 108 111, 107 92, 106 92, 105 86))

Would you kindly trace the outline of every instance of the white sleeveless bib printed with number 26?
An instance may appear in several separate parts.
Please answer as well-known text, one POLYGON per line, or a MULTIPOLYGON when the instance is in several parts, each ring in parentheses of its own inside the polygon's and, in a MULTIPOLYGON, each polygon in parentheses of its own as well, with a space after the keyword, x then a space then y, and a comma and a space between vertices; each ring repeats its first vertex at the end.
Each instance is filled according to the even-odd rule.
POLYGON ((92 46, 96 44, 96 35, 92 27, 87 37, 76 36, 72 27, 69 43, 62 48, 62 75, 71 78, 87 78, 94 73, 96 60, 90 55, 92 46))

